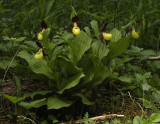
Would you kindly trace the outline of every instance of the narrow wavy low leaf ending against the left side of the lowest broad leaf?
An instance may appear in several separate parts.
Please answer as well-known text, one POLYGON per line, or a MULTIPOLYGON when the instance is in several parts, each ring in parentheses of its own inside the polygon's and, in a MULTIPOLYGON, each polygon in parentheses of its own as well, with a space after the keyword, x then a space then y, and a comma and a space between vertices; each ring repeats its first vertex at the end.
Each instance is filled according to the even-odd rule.
POLYGON ((39 108, 41 106, 44 106, 47 104, 46 98, 40 99, 40 100, 35 100, 32 101, 30 103, 28 102, 20 102, 19 105, 26 108, 26 109, 30 109, 30 108, 39 108))

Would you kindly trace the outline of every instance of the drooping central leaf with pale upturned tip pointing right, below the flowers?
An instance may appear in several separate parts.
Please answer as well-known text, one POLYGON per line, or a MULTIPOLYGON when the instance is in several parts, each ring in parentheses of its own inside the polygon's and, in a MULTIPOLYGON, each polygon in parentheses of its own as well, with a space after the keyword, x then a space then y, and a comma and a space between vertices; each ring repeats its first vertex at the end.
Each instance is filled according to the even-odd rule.
POLYGON ((75 87, 84 76, 85 75, 82 72, 79 72, 70 78, 63 79, 62 83, 58 87, 59 91, 57 93, 62 94, 64 90, 75 87))

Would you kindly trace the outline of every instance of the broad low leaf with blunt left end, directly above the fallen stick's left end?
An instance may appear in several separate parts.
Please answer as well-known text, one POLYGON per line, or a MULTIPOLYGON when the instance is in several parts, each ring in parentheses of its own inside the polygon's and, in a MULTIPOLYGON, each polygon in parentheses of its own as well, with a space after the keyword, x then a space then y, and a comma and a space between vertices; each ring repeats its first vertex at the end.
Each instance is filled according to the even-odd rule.
POLYGON ((48 109, 60 109, 63 107, 68 107, 72 104, 72 102, 66 101, 63 98, 58 96, 49 97, 47 101, 48 109))

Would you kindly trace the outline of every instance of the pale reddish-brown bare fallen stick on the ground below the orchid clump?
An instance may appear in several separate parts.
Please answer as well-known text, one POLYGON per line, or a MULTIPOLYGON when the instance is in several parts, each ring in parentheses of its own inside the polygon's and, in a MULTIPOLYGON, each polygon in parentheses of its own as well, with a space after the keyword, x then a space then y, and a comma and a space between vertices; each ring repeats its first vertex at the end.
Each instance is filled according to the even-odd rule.
MULTIPOLYGON (((93 121, 103 121, 106 120, 108 118, 121 118, 124 117, 124 115, 118 115, 118 114, 108 114, 108 115, 101 115, 101 116, 96 116, 96 117, 92 117, 92 118, 87 118, 86 120, 93 120, 93 121)), ((75 120, 72 122, 62 122, 62 123, 58 123, 58 124, 76 124, 76 123, 81 123, 84 119, 80 119, 80 120, 75 120)))

